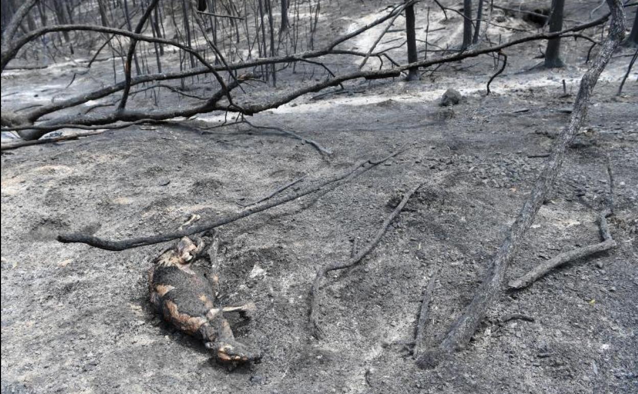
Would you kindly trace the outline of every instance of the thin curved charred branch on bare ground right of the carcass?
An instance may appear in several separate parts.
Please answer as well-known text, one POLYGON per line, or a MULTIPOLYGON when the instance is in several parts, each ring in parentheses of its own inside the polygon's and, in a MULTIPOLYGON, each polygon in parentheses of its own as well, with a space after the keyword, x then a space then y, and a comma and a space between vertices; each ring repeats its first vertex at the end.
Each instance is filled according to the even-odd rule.
POLYGON ((355 264, 358 264, 364 257, 366 257, 366 255, 369 254, 375 248, 375 246, 379 243, 379 241, 381 241, 383 234, 385 234, 385 231, 387 230, 392 220, 394 220, 394 218, 396 218, 399 215, 399 213, 401 213, 405 204, 408 203, 408 200, 410 199, 410 197, 412 197, 412 195, 421 187, 421 185, 423 185, 423 183, 419 183, 419 185, 415 186, 414 188, 412 188, 412 190, 405 193, 405 195, 403 196, 403 200, 399 202, 399 205, 397 206, 397 208, 394 208, 394 211, 392 211, 390 216, 388 216, 383 221, 383 224, 381 225, 381 227, 379 227, 378 231, 376 231, 375 238, 373 238, 372 241, 370 241, 366 245, 366 247, 360 250, 354 257, 350 258, 346 262, 333 262, 323 268, 320 268, 317 271, 315 280, 313 280, 313 284, 310 290, 310 314, 309 314, 309 320, 313 326, 313 335, 315 335, 316 338, 323 337, 323 330, 319 324, 319 314, 320 314, 319 290, 321 287, 322 278, 325 277, 325 275, 327 275, 327 273, 329 273, 330 271, 352 267, 355 264))

